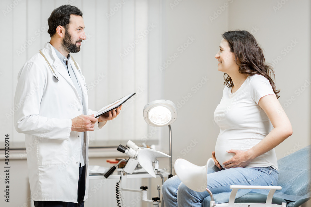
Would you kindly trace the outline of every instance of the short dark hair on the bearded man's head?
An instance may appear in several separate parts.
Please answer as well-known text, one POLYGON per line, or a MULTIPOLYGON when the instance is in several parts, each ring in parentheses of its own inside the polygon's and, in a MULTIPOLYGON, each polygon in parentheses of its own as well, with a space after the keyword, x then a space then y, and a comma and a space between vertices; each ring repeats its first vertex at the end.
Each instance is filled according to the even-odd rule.
POLYGON ((51 16, 48 18, 49 29, 48 33, 52 37, 56 33, 56 28, 60 25, 67 29, 70 23, 70 15, 74 14, 82 16, 82 11, 75 6, 70 4, 60 6, 52 11, 51 16))

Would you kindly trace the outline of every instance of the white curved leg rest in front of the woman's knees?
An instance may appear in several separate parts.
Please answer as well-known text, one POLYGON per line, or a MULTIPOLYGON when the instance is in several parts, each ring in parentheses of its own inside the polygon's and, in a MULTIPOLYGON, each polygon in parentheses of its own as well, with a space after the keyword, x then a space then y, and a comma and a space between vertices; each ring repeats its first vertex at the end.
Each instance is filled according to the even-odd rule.
POLYGON ((197 192, 204 192, 207 187, 207 169, 212 168, 215 162, 212 158, 206 165, 197 166, 187 160, 177 159, 174 164, 175 173, 188 188, 197 192))

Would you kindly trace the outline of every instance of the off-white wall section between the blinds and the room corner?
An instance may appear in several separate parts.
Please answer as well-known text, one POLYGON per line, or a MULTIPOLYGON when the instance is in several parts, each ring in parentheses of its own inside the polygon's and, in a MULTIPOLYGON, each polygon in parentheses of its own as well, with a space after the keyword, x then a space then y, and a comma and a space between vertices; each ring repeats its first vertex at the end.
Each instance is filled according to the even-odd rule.
MULTIPOLYGON (((177 120, 172 124, 173 163, 181 157, 203 164, 219 132, 212 118, 221 99, 223 81, 214 56, 220 34, 228 27, 228 10, 211 24, 209 15, 219 1, 182 1, 171 8, 172 2, 167 1, 165 8, 163 50, 166 54, 163 59, 169 59, 174 53, 179 56, 163 73, 164 98, 179 108, 177 120), (188 37, 194 40, 187 47, 188 37), (185 50, 180 46, 184 44, 185 50), (206 83, 205 78, 208 79, 206 83)), ((168 134, 164 133, 163 146, 167 146, 168 134)))

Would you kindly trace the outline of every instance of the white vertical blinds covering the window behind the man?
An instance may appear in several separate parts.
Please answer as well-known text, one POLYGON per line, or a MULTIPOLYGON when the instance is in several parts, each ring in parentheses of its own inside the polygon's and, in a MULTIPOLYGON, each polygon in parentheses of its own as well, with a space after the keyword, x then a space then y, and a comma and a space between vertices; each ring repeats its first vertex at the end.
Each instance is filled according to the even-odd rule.
POLYGON ((11 148, 25 147, 24 134, 17 133, 13 125, 17 74, 50 40, 47 19, 64 4, 83 12, 86 40, 81 51, 72 55, 86 78, 89 108, 100 110, 137 92, 116 119, 90 133, 90 146, 115 146, 128 140, 157 143, 160 131, 148 136, 152 128, 144 121, 143 107, 162 94, 161 0, 3 0, 0 21, 6 32, 0 34, 0 131, 3 136, 10 134, 11 148))

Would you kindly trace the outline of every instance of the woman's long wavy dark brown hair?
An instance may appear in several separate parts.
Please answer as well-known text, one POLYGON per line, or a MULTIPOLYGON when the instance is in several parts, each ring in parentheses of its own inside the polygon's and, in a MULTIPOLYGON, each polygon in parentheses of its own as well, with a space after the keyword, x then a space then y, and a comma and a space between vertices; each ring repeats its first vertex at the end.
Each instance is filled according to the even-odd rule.
MULTIPOLYGON (((272 80, 272 77, 274 78, 273 68, 265 62, 262 49, 254 36, 244 30, 228 31, 221 35, 228 41, 231 52, 234 52, 235 62, 240 66, 239 73, 262 75, 269 80, 273 92, 279 98, 280 90, 276 90, 275 83, 272 80)), ((227 73, 224 74, 224 79, 224 84, 228 87, 233 86, 232 79, 227 73)))

